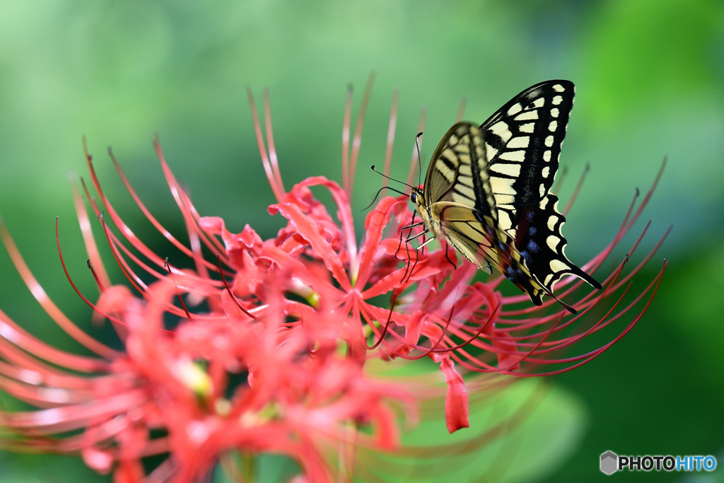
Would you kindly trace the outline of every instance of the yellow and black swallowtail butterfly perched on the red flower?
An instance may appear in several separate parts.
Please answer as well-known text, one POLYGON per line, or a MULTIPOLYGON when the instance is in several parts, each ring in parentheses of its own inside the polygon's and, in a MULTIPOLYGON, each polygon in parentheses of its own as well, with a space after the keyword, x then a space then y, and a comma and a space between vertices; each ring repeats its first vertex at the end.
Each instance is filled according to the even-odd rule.
POLYGON ((537 306, 543 295, 555 298, 553 287, 565 275, 601 288, 563 253, 565 218, 550 193, 573 93, 571 81, 547 80, 519 93, 480 127, 450 127, 432 155, 424 187, 410 196, 435 237, 479 269, 490 273, 495 267, 537 306))

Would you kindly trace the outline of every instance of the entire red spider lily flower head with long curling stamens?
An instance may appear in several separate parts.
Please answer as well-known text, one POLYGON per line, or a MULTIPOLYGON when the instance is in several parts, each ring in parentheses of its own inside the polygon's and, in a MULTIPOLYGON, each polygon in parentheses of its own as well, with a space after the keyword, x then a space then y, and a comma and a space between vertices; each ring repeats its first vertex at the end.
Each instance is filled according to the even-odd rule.
MULTIPOLYGON (((624 273, 637 240, 599 292, 579 295, 582 282, 560 282, 557 295, 575 301, 576 316, 555 301, 531 306, 526 295, 502 296, 496 290, 502 277, 476 282, 473 265, 451 264, 452 249, 410 248, 403 241, 412 217, 405 196, 382 198, 367 215, 358 245, 350 196, 369 89, 353 136, 348 95, 342 186, 310 177, 288 191, 277 163, 268 98, 265 93, 265 143, 250 93, 262 162, 277 200, 269 212, 287 219, 269 240, 248 225, 232 233, 224 220, 201 217, 156 142, 188 229, 190 243, 184 245, 146 209, 111 154, 144 216, 188 257, 192 269, 177 269, 135 236, 106 197, 86 152, 97 197, 84 184, 85 197, 133 290, 111 285, 75 190, 88 264, 101 296, 92 303, 76 290, 96 318, 114 325, 125 350, 99 343, 67 319, 1 227, 10 257, 35 298, 94 356, 53 348, 0 312, 0 389, 36 408, 0 412, 0 445, 80 452, 93 469, 112 469, 119 482, 142 479, 142 460, 151 455, 168 455, 153 470, 153 479, 194 481, 233 452, 288 455, 311 481, 351 479, 355 448, 397 448, 399 413, 414 423, 417 403, 434 393, 430 385, 374 376, 367 370, 372 359, 429 357, 437 362, 447 387, 447 429, 453 432, 468 426, 468 390, 484 392, 510 380, 500 374, 572 369, 599 356, 639 321, 664 268, 638 295, 628 295, 628 281, 658 245, 624 273), (338 221, 313 196, 313 186, 329 191, 338 221), (144 282, 148 277, 153 282, 144 282), (613 340, 565 356, 571 346, 638 307, 641 299, 643 307, 613 340), (164 324, 169 318, 178 321, 174 328, 164 324)), ((396 99, 385 172, 392 156, 396 99)), ((413 156, 411 170, 415 161, 413 156)), ((632 203, 611 243, 583 267, 587 272, 599 269, 631 229, 655 184, 635 213, 632 203)), ((62 253, 60 246, 59 240, 62 253)))

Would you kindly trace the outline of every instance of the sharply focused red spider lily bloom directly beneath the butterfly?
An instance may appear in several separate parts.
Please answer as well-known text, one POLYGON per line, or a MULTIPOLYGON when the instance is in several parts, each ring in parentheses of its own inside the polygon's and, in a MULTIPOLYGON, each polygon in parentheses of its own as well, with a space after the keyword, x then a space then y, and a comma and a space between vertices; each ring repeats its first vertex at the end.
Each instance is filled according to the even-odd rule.
MULTIPOLYGON (((353 341, 361 346, 359 350, 379 349, 387 357, 431 356, 440 363, 440 369, 445 373, 448 386, 446 412, 451 432, 467 424, 463 378, 455 369, 453 361, 466 371, 481 373, 520 376, 557 374, 599 356, 641 319, 657 290, 666 263, 654 280, 641 293, 630 299, 626 299, 628 282, 652 258, 668 232, 636 267, 624 274, 623 270, 646 232, 644 229, 631 251, 617 269, 606 278, 603 289, 598 292, 578 295, 584 283, 573 277, 560 282, 557 285, 560 298, 571 301, 576 300, 576 296, 579 297, 578 301, 571 303, 578 309, 576 315, 571 315, 557 306, 554 299, 547 300, 542 306, 531 306, 529 298, 524 294, 503 297, 494 290, 502 280, 505 280, 502 275, 486 283, 473 282, 473 277, 477 273, 476 268, 468 263, 456 268, 450 263, 450 257, 455 256, 451 248, 448 248, 447 253, 443 249, 429 253, 414 251, 409 247, 400 249, 400 240, 403 239, 401 232, 405 224, 412 219, 407 196, 383 198, 377 204, 366 217, 366 236, 363 245, 358 248, 355 238, 351 235, 353 227, 346 195, 352 189, 356 159, 361 144, 364 106, 368 96, 369 88, 363 99, 358 128, 352 143, 353 149, 347 156, 350 140, 350 97, 348 96, 343 134, 345 144, 342 151, 342 173, 345 176, 343 185, 346 187, 344 189, 334 182, 319 177, 310 178, 296 185, 290 193, 282 195, 285 189, 274 154, 268 103, 265 103, 268 155, 261 135, 261 123, 258 122, 254 110, 262 161, 279 201, 277 205, 271 207, 271 210, 274 213, 280 212, 289 219, 292 231, 301 235, 308 243, 308 248, 311 248, 307 253, 308 256, 324 264, 324 268, 334 278, 335 285, 314 285, 311 280, 306 280, 305 285, 311 293, 318 295, 327 303, 333 303, 335 309, 339 308, 343 314, 352 317, 355 328, 361 331, 358 340, 353 341), (337 205, 341 230, 335 231, 331 228, 337 225, 331 221, 327 211, 319 202, 313 201, 307 190, 309 185, 323 185, 330 190, 337 205), (326 238, 320 235, 319 226, 324 227, 326 238), (391 309, 389 306, 379 306, 373 302, 379 295, 384 294, 392 294, 391 309), (573 344, 605 329, 625 316, 641 299, 645 300, 644 306, 633 314, 630 322, 613 337, 613 340, 577 356, 560 356, 573 344), (604 306, 606 302, 608 305, 604 306), (520 303, 524 303, 525 307, 511 307, 520 303), (590 314, 594 314, 594 322, 587 320, 592 318, 590 314), (374 344, 367 343, 370 335, 374 335, 372 337, 374 344), (559 367, 555 368, 555 365, 559 367)), ((250 101, 253 106, 251 94, 250 101)), ((390 166, 396 112, 395 96, 385 173, 390 166)), ((411 172, 415 167, 416 159, 413 156, 411 172)), ((663 168, 664 164, 649 192, 634 212, 639 197, 637 191, 620 230, 594 259, 584 265, 586 272, 596 272, 623 236, 631 230, 633 223, 639 219, 641 211, 652 196, 663 168)), ((576 193, 580 188, 581 183, 576 188, 576 193)), ((564 209, 564 214, 570 209, 571 203, 564 209)), ((415 238, 415 235, 416 233, 410 233, 410 238, 415 238)), ((286 255, 274 258, 278 264, 284 264, 285 260, 288 260, 286 255)))

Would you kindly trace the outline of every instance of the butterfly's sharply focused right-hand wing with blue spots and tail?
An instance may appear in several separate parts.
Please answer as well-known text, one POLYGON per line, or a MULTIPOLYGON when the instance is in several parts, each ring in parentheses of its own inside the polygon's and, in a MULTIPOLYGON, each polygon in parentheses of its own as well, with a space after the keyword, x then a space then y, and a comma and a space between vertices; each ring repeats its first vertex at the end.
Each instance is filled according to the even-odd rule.
POLYGON ((550 193, 574 93, 568 80, 533 85, 481 125, 500 228, 515 238, 531 274, 548 291, 566 274, 600 287, 565 256, 565 218, 550 193))

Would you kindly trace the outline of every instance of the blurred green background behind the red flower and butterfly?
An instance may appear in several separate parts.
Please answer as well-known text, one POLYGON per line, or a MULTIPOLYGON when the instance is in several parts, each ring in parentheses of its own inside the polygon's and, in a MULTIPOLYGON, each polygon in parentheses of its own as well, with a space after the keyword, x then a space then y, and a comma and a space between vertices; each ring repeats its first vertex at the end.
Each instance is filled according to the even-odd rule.
MULTIPOLYGON (((598 469, 605 450, 712 454, 724 464, 720 0, 3 1, 0 213, 51 297, 73 319, 88 319, 64 279, 54 236, 59 216, 72 275, 93 293, 67 182, 70 171, 86 175, 81 135, 104 187, 144 240, 159 237, 124 194, 105 151, 113 146, 148 207, 181 234, 151 146, 154 133, 202 215, 224 217, 231 230, 249 223, 269 236, 280 221, 266 213, 274 200, 245 87, 257 101, 269 88, 289 187, 309 175, 340 180, 345 90, 354 85, 356 109, 373 70, 356 213, 379 188, 368 167, 382 164, 395 88, 392 174, 404 177, 422 108, 429 159, 461 98, 467 98, 466 119, 481 122, 529 85, 573 80, 576 106, 561 156, 570 175, 560 195, 571 195, 590 164, 565 227, 568 256, 578 263, 613 236, 635 188, 647 189, 669 156, 642 220, 652 219, 643 248, 670 224, 674 231, 634 285, 642 288, 665 257, 671 263, 660 293, 604 356, 555 378, 551 400, 561 414, 531 416, 545 431, 521 459, 539 463, 514 479, 605 479, 598 469)), ((159 242, 157 251, 164 246, 159 242)), ((3 310, 33 334, 72 347, 4 252, 0 270, 3 310)), ((721 481, 723 472, 610 478, 721 481)), ((90 477, 75 459, 0 453, 3 482, 90 477)))

